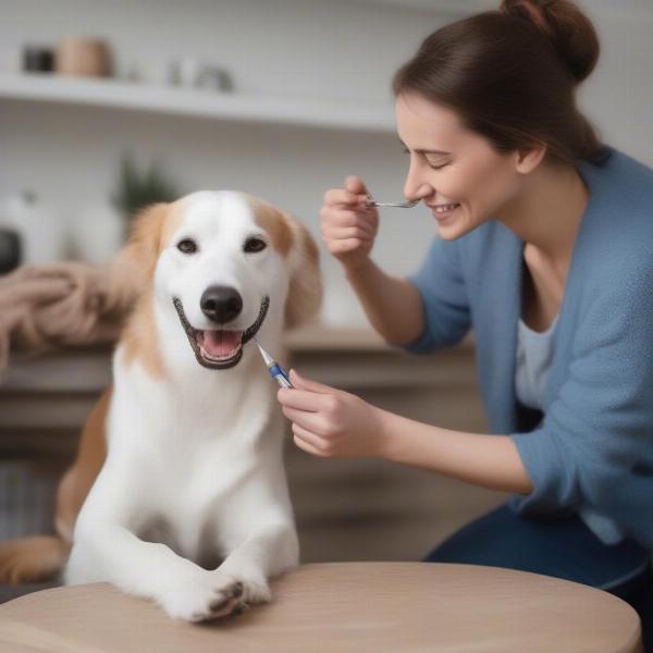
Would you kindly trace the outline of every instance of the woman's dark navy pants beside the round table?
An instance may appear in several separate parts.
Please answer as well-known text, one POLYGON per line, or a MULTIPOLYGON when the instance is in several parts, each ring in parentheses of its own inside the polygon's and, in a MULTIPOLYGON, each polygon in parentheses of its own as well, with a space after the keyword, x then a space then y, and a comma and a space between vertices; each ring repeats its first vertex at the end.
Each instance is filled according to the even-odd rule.
POLYGON ((637 611, 644 651, 653 653, 650 556, 651 552, 632 540, 603 544, 577 516, 521 517, 502 506, 454 533, 424 562, 520 569, 605 590, 637 611))

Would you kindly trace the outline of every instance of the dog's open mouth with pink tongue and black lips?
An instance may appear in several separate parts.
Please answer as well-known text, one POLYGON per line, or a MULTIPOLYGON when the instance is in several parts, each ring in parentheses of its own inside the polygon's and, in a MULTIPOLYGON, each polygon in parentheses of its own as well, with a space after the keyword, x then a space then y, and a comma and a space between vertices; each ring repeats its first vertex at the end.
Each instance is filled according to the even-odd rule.
POLYGON ((197 362, 212 370, 223 370, 234 367, 241 360, 243 345, 256 335, 266 319, 268 307, 270 306, 270 297, 263 297, 258 318, 245 331, 229 329, 207 329, 201 331, 194 329, 186 319, 182 300, 178 297, 174 297, 172 303, 180 316, 182 326, 188 336, 188 342, 193 347, 197 362))

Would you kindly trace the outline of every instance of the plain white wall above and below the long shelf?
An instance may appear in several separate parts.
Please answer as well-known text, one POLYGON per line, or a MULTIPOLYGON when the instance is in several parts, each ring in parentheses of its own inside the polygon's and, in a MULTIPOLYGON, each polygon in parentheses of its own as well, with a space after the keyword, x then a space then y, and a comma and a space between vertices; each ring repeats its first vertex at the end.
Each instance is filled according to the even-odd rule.
MULTIPOLYGON (((428 3, 438 7, 438 1, 428 3)), ((373 100, 392 112, 389 83, 419 41, 482 0, 445 2, 446 11, 390 0, 0 0, 0 56, 23 42, 97 34, 114 47, 118 72, 139 64, 160 78, 175 57, 229 69, 237 90, 263 95, 373 100)), ((650 69, 653 3, 630 1, 618 14, 587 0, 603 39, 599 70, 581 106, 606 141, 653 165, 650 69)), ((109 109, 0 99, 0 194, 34 188, 62 214, 107 197, 122 151, 160 158, 184 190, 241 188, 284 207, 319 237, 321 198, 349 173, 378 197, 402 195, 405 158, 396 137, 335 130, 239 124, 109 109)), ((387 211, 374 249, 389 271, 415 269, 433 234, 421 208, 387 211)), ((330 321, 361 323, 338 266, 324 252, 330 321)))

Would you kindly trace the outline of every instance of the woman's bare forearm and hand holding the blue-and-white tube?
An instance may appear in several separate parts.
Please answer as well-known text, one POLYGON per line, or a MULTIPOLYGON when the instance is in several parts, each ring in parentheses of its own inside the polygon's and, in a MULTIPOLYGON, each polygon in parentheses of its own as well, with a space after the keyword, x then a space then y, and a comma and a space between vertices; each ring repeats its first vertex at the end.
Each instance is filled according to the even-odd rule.
POLYGON ((295 444, 313 456, 380 457, 503 492, 529 494, 531 482, 509 435, 465 433, 423 424, 360 397, 291 372, 295 389, 278 398, 295 444))

